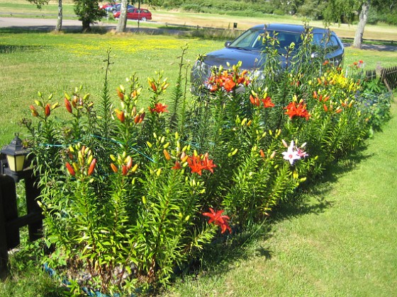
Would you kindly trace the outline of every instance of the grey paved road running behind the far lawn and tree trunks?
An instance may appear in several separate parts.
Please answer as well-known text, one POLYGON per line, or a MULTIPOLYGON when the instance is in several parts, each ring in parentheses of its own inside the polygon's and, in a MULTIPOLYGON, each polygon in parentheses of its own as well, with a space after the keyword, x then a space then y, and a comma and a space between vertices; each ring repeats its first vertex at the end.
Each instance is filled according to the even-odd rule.
MULTIPOLYGON (((57 25, 57 20, 52 18, 4 18, 0 17, 0 28, 23 28, 28 30, 41 30, 50 32, 55 30, 57 25)), ((102 28, 104 30, 116 30, 116 24, 99 22, 92 26, 93 28, 102 28)), ((82 30, 82 22, 74 20, 63 20, 62 30, 82 30)), ((128 21, 127 30, 133 32, 138 30, 137 21, 128 21)), ((155 29, 155 28, 140 28, 139 30, 149 31, 150 33, 162 33, 165 30, 155 29)), ((179 30, 166 30, 167 33, 172 34, 183 34, 179 30)), ((345 44, 345 46, 350 46, 350 44, 345 44)), ((397 52, 397 46, 393 45, 362 45, 363 50, 379 50, 386 52, 397 52)))

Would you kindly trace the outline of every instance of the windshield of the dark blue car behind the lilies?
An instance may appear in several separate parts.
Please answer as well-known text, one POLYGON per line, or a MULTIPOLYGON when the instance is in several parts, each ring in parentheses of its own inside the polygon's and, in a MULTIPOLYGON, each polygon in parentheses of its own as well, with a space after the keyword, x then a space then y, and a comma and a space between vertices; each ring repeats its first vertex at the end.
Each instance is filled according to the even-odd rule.
POLYGON ((229 47, 262 52, 265 47, 272 46, 271 41, 274 39, 278 40, 278 42, 275 42, 275 45, 280 53, 285 53, 286 47, 289 47, 292 42, 295 44, 295 50, 302 43, 301 33, 250 29, 237 37, 236 40, 230 43, 229 47))

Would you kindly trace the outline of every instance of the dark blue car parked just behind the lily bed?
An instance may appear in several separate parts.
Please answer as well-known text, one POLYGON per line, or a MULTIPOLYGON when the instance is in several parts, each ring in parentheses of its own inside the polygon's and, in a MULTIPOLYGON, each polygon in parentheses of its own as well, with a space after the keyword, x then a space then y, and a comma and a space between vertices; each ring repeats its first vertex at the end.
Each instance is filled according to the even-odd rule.
MULTIPOLYGON (((326 52, 325 60, 328 60, 330 63, 336 66, 342 64, 345 49, 337 35, 324 28, 311 29, 311 33, 313 33, 313 49, 315 49, 315 47, 323 49, 326 52)), ((260 73, 260 71, 262 71, 261 67, 264 61, 266 61, 266 54, 264 54, 263 50, 265 47, 269 46, 266 40, 264 40, 264 33, 269 33, 271 37, 278 40, 276 50, 279 53, 280 64, 281 67, 286 67, 286 49, 293 42, 295 47, 292 55, 296 54, 302 44, 301 35, 304 32, 305 27, 303 25, 274 23, 269 25, 256 25, 250 28, 233 42, 225 42, 225 48, 223 48, 223 50, 210 52, 201 57, 201 59, 197 59, 191 69, 191 92, 196 95, 199 93, 199 88, 203 88, 203 85, 211 76, 213 67, 219 68, 223 66, 223 69, 229 69, 230 66, 241 61, 241 69, 260 73)), ((317 53, 313 52, 312 57, 316 55, 317 53)))

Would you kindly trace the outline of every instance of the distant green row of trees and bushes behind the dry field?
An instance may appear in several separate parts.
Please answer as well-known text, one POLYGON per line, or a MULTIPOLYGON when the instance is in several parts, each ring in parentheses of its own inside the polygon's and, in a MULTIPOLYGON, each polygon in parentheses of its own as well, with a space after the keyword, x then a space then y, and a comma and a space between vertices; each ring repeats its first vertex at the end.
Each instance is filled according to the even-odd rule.
MULTIPOLYGON (((359 21, 359 0, 164 0, 163 8, 181 8, 185 11, 225 13, 228 15, 260 16, 263 13, 292 15, 312 20, 329 20, 335 23, 359 21), (335 4, 337 3, 336 7, 335 4), (340 5, 341 4, 341 5, 340 5), (345 5, 346 4, 346 5, 345 5), (350 6, 350 9, 345 9, 350 6)), ((367 23, 384 22, 397 25, 397 1, 370 1, 367 23)))

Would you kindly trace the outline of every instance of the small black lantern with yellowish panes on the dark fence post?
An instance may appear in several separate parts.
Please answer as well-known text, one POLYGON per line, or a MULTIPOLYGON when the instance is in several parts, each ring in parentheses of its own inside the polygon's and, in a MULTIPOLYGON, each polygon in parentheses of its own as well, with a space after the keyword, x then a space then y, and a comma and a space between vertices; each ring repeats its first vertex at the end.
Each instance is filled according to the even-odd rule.
POLYGON ((8 146, 3 146, 0 153, 7 156, 7 163, 9 163, 9 170, 12 172, 18 172, 23 170, 23 164, 29 151, 23 148, 22 140, 18 137, 18 133, 15 134, 14 139, 8 146))

